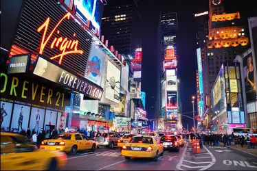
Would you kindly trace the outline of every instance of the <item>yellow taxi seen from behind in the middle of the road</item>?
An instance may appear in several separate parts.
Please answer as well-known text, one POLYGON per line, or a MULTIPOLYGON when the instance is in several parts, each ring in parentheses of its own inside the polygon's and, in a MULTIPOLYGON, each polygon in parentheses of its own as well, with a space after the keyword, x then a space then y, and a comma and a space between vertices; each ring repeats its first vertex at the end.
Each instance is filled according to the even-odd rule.
POLYGON ((122 146, 122 156, 125 159, 152 158, 157 161, 164 155, 164 146, 157 137, 149 135, 137 135, 131 138, 128 144, 122 146))

